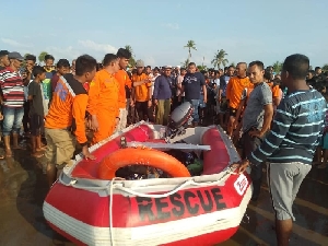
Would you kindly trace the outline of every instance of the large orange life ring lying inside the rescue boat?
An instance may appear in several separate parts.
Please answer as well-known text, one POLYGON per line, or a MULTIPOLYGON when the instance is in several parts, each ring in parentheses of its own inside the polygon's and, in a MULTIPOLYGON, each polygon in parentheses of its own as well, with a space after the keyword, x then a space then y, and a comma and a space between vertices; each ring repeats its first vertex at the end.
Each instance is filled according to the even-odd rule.
POLYGON ((103 160, 98 168, 101 179, 113 179, 118 168, 128 165, 160 168, 172 177, 190 177, 187 167, 169 154, 153 149, 127 148, 115 151, 103 160))

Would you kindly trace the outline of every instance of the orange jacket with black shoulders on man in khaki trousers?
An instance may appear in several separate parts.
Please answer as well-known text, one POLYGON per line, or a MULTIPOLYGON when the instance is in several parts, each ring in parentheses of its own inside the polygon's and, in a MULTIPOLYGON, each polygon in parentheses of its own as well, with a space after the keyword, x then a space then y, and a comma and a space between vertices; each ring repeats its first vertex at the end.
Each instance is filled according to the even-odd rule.
POLYGON ((45 127, 49 129, 72 127, 78 142, 82 145, 86 144, 84 121, 86 104, 87 93, 83 84, 70 73, 60 77, 46 116, 45 127))

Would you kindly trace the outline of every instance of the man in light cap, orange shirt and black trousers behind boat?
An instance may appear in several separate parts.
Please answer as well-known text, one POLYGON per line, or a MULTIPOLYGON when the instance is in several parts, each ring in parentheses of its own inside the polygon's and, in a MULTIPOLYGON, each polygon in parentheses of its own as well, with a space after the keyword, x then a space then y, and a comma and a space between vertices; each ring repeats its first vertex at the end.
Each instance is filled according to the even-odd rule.
POLYGON ((134 89, 133 102, 140 120, 149 119, 148 108, 152 106, 152 83, 150 78, 143 72, 144 62, 137 60, 137 73, 132 75, 132 84, 134 89))

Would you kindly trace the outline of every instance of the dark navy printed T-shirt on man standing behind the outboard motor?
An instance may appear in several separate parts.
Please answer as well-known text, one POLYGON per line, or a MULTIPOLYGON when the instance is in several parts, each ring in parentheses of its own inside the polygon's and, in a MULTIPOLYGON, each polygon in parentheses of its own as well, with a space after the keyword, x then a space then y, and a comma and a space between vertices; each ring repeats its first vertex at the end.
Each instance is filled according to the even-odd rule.
POLYGON ((204 77, 200 72, 187 73, 183 81, 186 99, 200 99, 200 87, 206 85, 204 77))

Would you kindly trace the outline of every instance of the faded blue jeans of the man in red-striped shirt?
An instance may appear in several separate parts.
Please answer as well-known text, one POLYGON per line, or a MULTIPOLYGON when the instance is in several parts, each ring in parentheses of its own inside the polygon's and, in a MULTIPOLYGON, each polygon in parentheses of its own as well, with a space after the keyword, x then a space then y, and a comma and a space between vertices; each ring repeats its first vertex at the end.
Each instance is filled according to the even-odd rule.
POLYGON ((20 133, 24 116, 24 107, 3 107, 3 136, 10 136, 11 131, 20 133))

